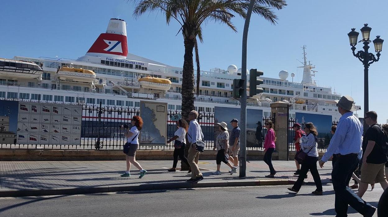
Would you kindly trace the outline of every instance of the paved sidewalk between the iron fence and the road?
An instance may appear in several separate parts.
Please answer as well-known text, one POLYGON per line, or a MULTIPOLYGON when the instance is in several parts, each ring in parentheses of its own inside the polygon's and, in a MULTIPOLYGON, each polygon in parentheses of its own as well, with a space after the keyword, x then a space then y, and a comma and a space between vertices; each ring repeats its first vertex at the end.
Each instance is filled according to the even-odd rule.
MULTIPOLYGON (((215 160, 199 161, 204 180, 185 182, 190 175, 184 171, 167 172, 172 161, 139 161, 148 173, 139 179, 139 170, 133 167, 131 177, 120 177, 125 161, 1 161, 0 197, 56 194, 102 193, 149 189, 177 189, 191 187, 226 187, 292 184, 294 161, 272 161, 277 170, 274 179, 266 178, 268 166, 263 161, 247 162, 246 177, 230 175, 229 167, 221 165, 222 175, 212 175, 215 160)), ((178 162, 178 166, 180 161, 178 162)), ((322 183, 331 178, 331 162, 319 169, 322 183)), ((310 172, 305 182, 314 182, 310 172)))

